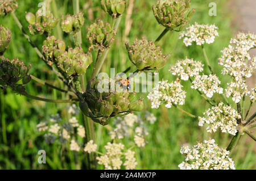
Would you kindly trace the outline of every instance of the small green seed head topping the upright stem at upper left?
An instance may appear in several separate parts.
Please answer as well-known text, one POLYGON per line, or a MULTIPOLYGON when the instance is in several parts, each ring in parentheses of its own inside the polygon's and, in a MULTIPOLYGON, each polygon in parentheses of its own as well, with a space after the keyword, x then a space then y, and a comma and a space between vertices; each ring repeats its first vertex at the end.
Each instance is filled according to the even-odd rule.
POLYGON ((63 16, 61 22, 61 28, 66 33, 71 33, 72 35, 76 35, 77 32, 81 30, 81 27, 84 25, 84 14, 79 12, 79 14, 75 15, 66 15, 63 16))

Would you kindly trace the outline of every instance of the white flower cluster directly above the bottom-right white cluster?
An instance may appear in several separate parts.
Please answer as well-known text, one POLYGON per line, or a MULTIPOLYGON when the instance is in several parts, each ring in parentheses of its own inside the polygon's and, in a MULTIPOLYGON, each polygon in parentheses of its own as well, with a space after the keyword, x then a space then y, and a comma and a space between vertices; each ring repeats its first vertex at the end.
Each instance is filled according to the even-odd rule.
POLYGON ((204 124, 209 124, 207 132, 216 132, 217 128, 221 128, 221 132, 228 132, 229 134, 236 135, 237 133, 237 119, 241 119, 231 106, 226 106, 224 103, 213 106, 204 112, 205 117, 199 117, 199 126, 203 127, 204 124))

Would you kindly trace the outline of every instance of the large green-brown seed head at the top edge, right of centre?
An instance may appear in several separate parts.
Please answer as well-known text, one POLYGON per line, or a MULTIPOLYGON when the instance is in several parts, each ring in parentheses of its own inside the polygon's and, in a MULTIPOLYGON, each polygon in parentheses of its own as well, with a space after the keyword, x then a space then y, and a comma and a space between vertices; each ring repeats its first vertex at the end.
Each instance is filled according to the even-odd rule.
POLYGON ((180 31, 195 12, 190 10, 190 0, 158 0, 152 9, 158 23, 171 31, 180 31))

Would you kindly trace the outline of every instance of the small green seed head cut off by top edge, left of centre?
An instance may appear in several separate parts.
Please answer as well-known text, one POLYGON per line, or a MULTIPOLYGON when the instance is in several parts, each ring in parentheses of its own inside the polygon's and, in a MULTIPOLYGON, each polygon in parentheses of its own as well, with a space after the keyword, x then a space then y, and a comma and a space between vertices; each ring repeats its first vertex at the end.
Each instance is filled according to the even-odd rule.
POLYGON ((125 11, 125 0, 101 0, 102 9, 113 18, 118 18, 125 11))

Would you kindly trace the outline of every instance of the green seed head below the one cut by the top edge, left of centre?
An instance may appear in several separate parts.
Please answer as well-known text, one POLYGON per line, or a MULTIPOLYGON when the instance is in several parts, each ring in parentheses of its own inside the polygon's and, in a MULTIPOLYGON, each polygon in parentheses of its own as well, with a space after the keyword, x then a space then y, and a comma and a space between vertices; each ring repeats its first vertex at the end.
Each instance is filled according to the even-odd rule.
POLYGON ((109 45, 114 40, 115 31, 109 23, 103 23, 102 20, 97 20, 88 28, 87 39, 90 41, 91 47, 96 47, 102 51, 109 48, 109 45))

